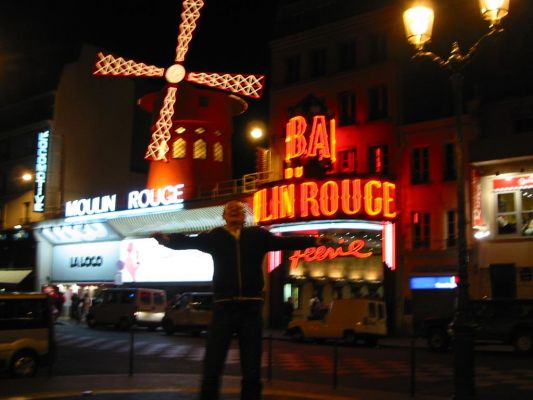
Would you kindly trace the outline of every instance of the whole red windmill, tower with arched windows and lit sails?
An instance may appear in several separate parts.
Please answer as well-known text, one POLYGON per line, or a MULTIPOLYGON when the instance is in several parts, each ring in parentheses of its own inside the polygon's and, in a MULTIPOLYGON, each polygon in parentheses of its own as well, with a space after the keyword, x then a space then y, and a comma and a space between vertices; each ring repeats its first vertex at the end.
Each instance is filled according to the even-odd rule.
POLYGON ((163 68, 98 53, 93 72, 99 76, 165 78, 162 96, 150 93, 139 101, 147 111, 158 110, 145 155, 150 161, 147 187, 184 183, 185 199, 195 196, 195 186, 200 183, 231 179, 232 117, 247 108, 246 102, 234 94, 259 99, 264 81, 263 75, 185 69, 185 56, 203 6, 203 0, 183 1, 176 57, 171 66, 163 68))

